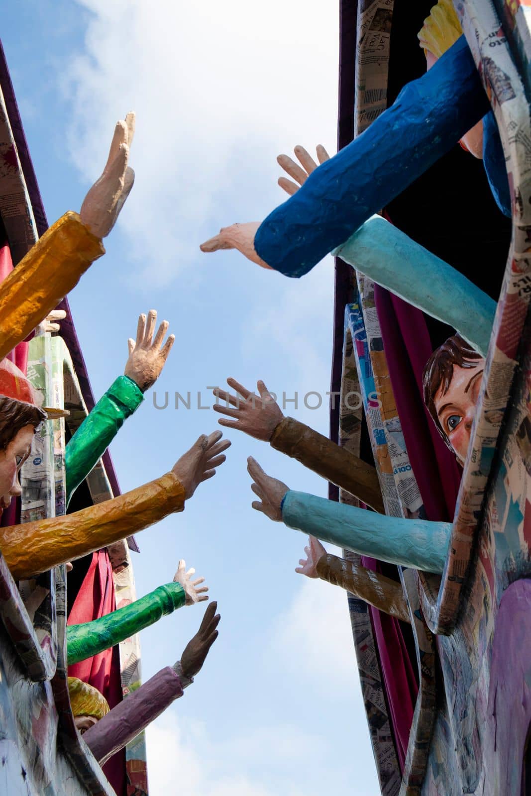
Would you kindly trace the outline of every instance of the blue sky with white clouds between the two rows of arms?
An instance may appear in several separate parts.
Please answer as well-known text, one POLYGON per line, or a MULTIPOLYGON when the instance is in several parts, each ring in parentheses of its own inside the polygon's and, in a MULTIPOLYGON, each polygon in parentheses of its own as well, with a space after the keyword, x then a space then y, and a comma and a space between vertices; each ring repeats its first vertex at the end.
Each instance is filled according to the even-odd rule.
MULTIPOLYGON (((206 406, 208 385, 263 378, 279 395, 297 392, 287 413, 326 433, 332 261, 291 280, 198 245, 283 201, 277 154, 319 142, 334 152, 337 4, 18 0, 2 18, 50 223, 79 209, 116 119, 137 113, 135 187, 107 255, 70 295, 96 397, 123 373, 127 338, 154 307, 177 336, 159 401, 200 392, 206 406), (303 406, 309 391, 321 408, 303 406)), ((216 425, 197 400, 158 411, 148 393, 111 447, 122 489, 168 470, 216 425)), ((305 537, 251 509, 246 458, 294 489, 324 495, 326 484, 265 443, 229 436, 216 478, 141 534, 134 556, 139 595, 185 558, 222 617, 195 683, 148 732, 150 793, 376 794, 346 595, 295 574, 305 537)), ((202 610, 143 631, 145 679, 180 657, 202 610)))

